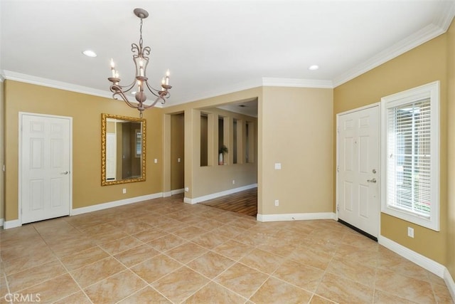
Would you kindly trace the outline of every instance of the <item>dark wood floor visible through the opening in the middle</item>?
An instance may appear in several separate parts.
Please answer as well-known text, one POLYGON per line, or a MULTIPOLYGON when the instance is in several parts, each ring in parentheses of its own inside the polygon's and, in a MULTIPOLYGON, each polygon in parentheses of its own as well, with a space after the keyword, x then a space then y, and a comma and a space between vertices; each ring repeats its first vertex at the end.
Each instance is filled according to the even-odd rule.
POLYGON ((249 216, 257 215, 257 188, 248 189, 242 192, 229 194, 226 196, 218 197, 217 199, 210 199, 204 201, 207 206, 212 206, 218 209, 237 212, 240 214, 247 214, 249 216))

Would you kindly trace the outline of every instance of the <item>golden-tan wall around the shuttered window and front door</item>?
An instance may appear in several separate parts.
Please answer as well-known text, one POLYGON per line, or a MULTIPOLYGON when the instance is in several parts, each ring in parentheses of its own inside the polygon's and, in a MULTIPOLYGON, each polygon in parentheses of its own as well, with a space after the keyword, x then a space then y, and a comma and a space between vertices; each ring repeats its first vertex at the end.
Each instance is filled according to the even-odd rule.
MULTIPOLYGON (((387 214, 381 214, 381 235, 420 253, 434 261, 446 264, 447 240, 447 43, 446 35, 434 38, 422 46, 384 63, 368 73, 334 89, 333 122, 336 114, 377 103, 383 96, 441 81, 441 175, 440 204, 441 231, 433 231, 410 224, 387 214), (407 236, 407 227, 414 228, 414 239, 407 236)), ((335 129, 333 129, 335 134, 335 129)), ((336 146, 335 138, 333 147, 336 146)), ((336 154, 333 154, 336 159, 336 154)), ((335 168, 333 167, 333 176, 335 168)))

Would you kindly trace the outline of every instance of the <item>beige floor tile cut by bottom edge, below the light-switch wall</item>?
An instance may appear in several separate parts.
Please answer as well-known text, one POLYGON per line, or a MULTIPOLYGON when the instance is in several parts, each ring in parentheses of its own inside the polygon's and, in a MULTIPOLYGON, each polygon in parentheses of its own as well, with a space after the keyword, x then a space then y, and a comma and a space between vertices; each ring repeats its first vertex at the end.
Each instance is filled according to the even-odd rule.
POLYGON ((308 303, 312 293, 276 278, 269 278, 250 298, 254 303, 308 303))

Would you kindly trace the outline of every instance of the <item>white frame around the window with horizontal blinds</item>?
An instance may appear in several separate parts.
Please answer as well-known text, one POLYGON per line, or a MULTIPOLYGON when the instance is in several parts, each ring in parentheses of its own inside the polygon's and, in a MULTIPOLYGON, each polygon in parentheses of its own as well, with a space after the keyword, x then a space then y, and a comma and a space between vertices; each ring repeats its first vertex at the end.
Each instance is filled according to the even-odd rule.
POLYGON ((433 83, 427 83, 417 88, 405 90, 400 93, 388 95, 381 98, 381 211, 385 214, 395 216, 405 221, 424 226, 434 231, 439 231, 439 213, 440 213, 440 96, 439 96, 440 83, 434 81, 433 83), (391 206, 387 202, 387 135, 388 135, 388 120, 387 110, 390 108, 396 108, 398 106, 407 105, 409 103, 422 100, 423 98, 429 98, 430 100, 430 197, 431 197, 431 209, 429 217, 422 216, 412 211, 397 208, 391 206))

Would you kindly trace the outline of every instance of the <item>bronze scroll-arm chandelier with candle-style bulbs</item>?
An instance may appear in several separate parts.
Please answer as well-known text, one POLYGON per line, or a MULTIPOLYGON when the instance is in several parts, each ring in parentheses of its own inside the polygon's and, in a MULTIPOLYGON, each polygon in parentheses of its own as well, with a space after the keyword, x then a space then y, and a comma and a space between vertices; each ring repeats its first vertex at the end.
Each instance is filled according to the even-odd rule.
POLYGON ((112 98, 118 99, 117 96, 120 96, 124 102, 129 105, 129 107, 139 110, 140 116, 142 118, 142 111, 153 107, 160 100, 163 104, 166 102, 164 98, 169 97, 168 90, 170 90, 172 86, 169 85, 169 70, 167 70, 166 76, 161 80, 161 85, 158 90, 152 88, 151 85, 149 85, 149 82, 147 81, 149 78, 147 78, 146 69, 147 65, 149 64, 150 47, 142 46, 142 19, 146 19, 149 16, 149 13, 144 9, 134 9, 134 14, 139 19, 141 19, 141 26, 139 28, 139 46, 136 43, 132 43, 131 45, 133 61, 134 65, 136 66, 136 78, 130 85, 119 85, 119 73, 117 70, 115 70, 114 60, 111 59, 112 77, 107 78, 107 80, 112 83, 110 86, 110 90, 113 93, 112 98), (149 105, 145 104, 147 96, 144 93, 144 88, 147 88, 149 92, 156 97, 156 99, 149 105), (134 94, 137 103, 128 100, 127 93, 130 91, 132 94, 134 94))

